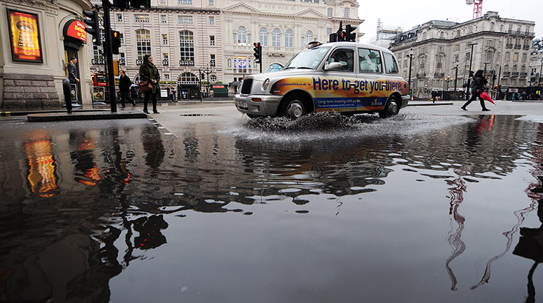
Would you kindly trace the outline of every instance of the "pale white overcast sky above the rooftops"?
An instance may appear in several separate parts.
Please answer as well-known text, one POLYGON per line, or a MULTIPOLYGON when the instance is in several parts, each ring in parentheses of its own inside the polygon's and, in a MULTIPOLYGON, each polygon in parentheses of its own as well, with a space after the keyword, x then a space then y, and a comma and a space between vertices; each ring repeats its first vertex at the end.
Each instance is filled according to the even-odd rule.
MULTIPOLYGON (((465 22, 473 19, 473 4, 466 4, 466 0, 359 0, 359 4, 359 18, 365 20, 359 29, 366 33, 362 36, 363 42, 376 36, 377 19, 381 19, 383 26, 400 26, 404 31, 430 20, 465 22)), ((482 15, 497 11, 502 18, 534 21, 535 37, 542 38, 542 0, 483 0, 482 6, 482 15)))

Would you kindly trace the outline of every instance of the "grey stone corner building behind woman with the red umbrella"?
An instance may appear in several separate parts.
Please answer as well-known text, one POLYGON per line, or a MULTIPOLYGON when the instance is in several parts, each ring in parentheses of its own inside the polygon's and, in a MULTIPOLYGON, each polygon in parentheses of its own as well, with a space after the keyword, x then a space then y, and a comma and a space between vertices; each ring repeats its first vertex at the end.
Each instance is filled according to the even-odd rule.
POLYGON ((529 84, 534 26, 534 21, 505 19, 494 11, 463 23, 429 21, 394 36, 391 50, 406 79, 411 66, 415 97, 462 90, 471 66, 473 72, 485 71, 495 97, 500 97, 497 86, 501 86, 501 97, 507 98, 509 90, 529 84))

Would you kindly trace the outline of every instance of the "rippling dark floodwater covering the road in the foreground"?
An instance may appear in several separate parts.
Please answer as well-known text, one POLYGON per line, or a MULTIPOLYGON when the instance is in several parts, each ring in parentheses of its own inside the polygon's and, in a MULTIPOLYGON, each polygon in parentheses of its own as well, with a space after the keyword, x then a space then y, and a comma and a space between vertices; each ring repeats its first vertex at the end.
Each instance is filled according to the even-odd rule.
POLYGON ((517 118, 1 120, 0 302, 543 302, 517 118))

